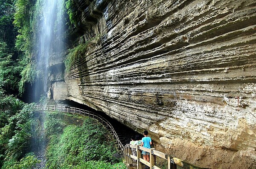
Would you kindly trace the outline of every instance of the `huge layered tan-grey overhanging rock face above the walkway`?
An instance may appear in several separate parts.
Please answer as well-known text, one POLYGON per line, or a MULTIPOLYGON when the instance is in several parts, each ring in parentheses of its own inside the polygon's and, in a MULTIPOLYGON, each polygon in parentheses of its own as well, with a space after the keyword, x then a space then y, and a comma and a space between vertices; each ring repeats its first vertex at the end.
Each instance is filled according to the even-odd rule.
POLYGON ((199 166, 256 168, 256 0, 76 5, 90 42, 63 82, 51 79, 54 99, 148 130, 199 166))

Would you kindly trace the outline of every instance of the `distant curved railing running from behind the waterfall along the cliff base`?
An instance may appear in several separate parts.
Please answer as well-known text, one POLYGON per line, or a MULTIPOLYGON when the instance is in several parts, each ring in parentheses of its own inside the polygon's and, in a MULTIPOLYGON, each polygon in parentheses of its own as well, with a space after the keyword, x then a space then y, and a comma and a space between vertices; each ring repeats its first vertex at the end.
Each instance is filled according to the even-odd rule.
POLYGON ((91 112, 91 111, 79 109, 76 107, 57 106, 57 105, 36 105, 35 110, 38 110, 38 111, 47 110, 47 111, 58 111, 58 112, 64 112, 64 113, 72 113, 72 114, 84 115, 84 116, 88 116, 88 117, 97 119, 99 121, 99 123, 101 123, 102 125, 105 125, 107 128, 110 129, 111 135, 116 140, 117 148, 119 148, 121 150, 121 154, 124 155, 124 145, 121 143, 116 131, 114 130, 111 123, 106 118, 102 117, 101 115, 91 112))

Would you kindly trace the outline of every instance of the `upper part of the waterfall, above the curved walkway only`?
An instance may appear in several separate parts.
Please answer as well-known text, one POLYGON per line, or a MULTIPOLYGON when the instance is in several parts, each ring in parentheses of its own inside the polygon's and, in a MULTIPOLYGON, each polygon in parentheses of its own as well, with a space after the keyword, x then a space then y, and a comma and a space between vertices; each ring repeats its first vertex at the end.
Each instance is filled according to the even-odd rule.
POLYGON ((64 53, 64 4, 65 0, 42 0, 41 21, 38 23, 37 69, 40 70, 41 79, 35 83, 35 101, 47 96, 52 99, 51 73, 49 69, 63 69, 63 65, 55 64, 64 53))

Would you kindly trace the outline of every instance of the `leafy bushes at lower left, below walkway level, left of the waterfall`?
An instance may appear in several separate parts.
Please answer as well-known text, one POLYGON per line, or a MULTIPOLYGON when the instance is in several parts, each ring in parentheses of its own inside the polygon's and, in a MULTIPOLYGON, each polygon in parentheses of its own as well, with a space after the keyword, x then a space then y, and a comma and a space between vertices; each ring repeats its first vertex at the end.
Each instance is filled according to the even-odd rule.
MULTIPOLYGON (((4 111, 0 110, 0 166, 9 169, 29 150, 31 117, 35 104, 25 104, 2 93, 4 111)), ((0 99, 0 100, 2 100, 0 99)))

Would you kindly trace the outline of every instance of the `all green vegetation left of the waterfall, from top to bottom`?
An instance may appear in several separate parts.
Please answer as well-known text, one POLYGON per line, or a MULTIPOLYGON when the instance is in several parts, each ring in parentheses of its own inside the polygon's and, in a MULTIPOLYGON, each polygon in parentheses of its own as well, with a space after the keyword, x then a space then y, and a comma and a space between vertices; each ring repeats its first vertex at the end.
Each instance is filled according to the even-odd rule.
MULTIPOLYGON (((38 160, 29 152, 34 104, 25 104, 18 96, 20 72, 26 65, 22 46, 28 20, 22 0, 0 0, 0 168, 31 168, 38 160), (15 2, 15 3, 14 3, 15 2), (17 4, 15 12, 15 4, 17 4), (17 30, 17 27, 22 29, 17 30), (18 36, 17 36, 18 35, 18 36), (16 39, 17 36, 17 39, 16 39), (24 36, 23 36, 24 37, 24 36)), ((29 3, 28 3, 29 4, 29 3)), ((27 36, 28 33, 26 33, 27 36)), ((27 48, 28 46, 26 46, 27 48)))

